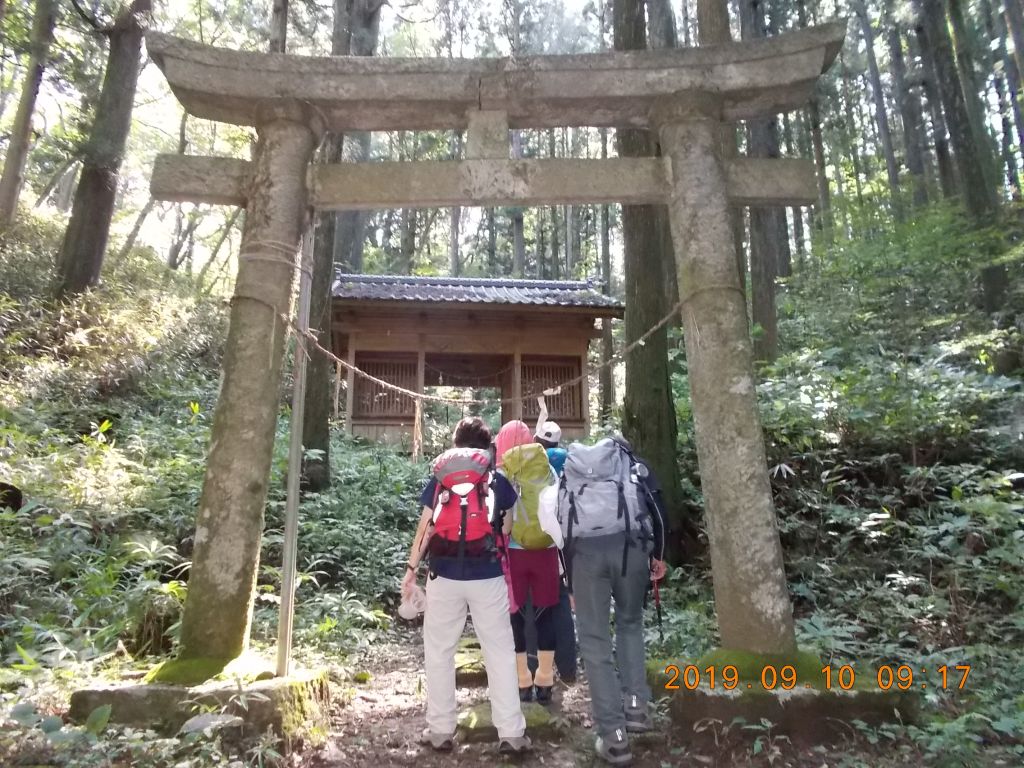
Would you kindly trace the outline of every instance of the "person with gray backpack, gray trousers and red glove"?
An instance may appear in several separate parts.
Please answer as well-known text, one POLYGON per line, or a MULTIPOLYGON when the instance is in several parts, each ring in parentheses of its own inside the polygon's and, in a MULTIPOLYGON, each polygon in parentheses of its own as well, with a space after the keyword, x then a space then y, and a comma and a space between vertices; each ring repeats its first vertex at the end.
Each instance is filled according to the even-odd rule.
POLYGON ((595 746, 604 761, 627 765, 633 759, 627 734, 651 728, 643 608, 648 582, 656 583, 666 571, 660 488, 625 438, 573 443, 558 492, 558 520, 590 683, 595 746))

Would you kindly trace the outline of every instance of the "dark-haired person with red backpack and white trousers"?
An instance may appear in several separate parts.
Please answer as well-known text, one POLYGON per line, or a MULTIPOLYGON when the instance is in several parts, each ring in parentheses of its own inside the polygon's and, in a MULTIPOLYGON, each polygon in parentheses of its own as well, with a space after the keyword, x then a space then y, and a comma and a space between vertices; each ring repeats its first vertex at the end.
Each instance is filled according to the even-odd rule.
POLYGON ((519 754, 531 744, 516 695, 509 591, 501 561, 503 527, 511 524, 506 512, 517 497, 508 480, 492 472, 490 429, 481 419, 460 421, 453 442, 455 447, 434 462, 433 476, 423 489, 423 514, 401 585, 403 597, 416 591, 417 571, 426 555, 427 727, 421 740, 439 752, 455 745, 455 653, 468 611, 483 651, 499 752, 519 754))

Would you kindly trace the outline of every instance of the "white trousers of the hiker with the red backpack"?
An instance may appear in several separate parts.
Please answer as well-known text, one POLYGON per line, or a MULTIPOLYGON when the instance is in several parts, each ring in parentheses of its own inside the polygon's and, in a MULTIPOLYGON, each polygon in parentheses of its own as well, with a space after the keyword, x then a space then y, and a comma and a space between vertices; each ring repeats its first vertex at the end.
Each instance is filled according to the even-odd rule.
POLYGON ((521 736, 526 730, 526 720, 519 706, 508 587, 503 577, 469 582, 442 577, 427 580, 427 608, 423 616, 427 727, 431 733, 455 733, 455 652, 466 627, 467 609, 473 616, 473 628, 483 650, 490 716, 498 736, 521 736))

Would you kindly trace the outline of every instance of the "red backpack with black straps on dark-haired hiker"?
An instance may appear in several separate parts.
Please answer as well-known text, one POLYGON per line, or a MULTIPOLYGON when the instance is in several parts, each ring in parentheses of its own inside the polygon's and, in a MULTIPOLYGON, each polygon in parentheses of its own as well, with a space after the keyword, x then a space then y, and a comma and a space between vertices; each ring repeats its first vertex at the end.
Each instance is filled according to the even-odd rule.
MULTIPOLYGON (((477 449, 451 449, 434 462, 434 540, 439 547, 432 551, 451 551, 444 546, 458 543, 458 556, 466 551, 466 543, 494 537, 492 511, 487 508, 490 484, 490 457, 477 449)), ((476 549, 476 548, 474 548, 476 549)), ((456 554, 456 553, 453 553, 456 554)))

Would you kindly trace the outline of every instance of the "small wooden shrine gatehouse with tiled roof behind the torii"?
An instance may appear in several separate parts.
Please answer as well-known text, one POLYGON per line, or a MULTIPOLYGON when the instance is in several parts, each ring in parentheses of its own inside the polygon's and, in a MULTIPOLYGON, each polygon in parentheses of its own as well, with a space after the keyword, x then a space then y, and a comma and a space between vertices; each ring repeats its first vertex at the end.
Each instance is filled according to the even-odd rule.
MULTIPOLYGON (((623 304, 587 283, 480 278, 340 274, 333 287, 334 352, 404 389, 494 388, 502 422, 532 426, 535 397, 587 371, 596 319, 623 316, 623 304), (518 398, 526 397, 525 400, 518 398)), ((412 441, 412 397, 351 371, 345 423, 372 439, 412 441)), ((587 378, 548 397, 563 439, 590 429, 587 378)))

